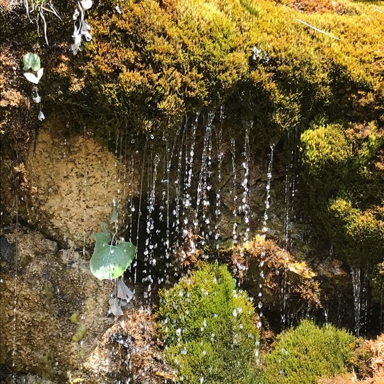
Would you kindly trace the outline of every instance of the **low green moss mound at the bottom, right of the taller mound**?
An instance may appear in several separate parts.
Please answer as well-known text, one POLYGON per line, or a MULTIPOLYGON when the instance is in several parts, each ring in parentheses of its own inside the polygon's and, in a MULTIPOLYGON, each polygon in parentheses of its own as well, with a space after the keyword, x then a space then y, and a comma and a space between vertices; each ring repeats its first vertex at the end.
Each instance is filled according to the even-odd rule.
POLYGON ((277 337, 265 356, 261 383, 315 384, 320 377, 346 371, 355 337, 332 325, 318 327, 304 320, 277 337))

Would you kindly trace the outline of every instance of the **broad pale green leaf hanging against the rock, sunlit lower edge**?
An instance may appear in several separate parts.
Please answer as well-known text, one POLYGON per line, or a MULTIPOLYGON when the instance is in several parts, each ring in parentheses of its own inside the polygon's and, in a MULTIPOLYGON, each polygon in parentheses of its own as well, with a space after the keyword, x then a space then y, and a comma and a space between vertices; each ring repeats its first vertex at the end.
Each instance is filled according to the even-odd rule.
POLYGON ((100 280, 117 279, 131 265, 136 247, 131 242, 110 245, 111 235, 107 224, 101 224, 101 228, 103 232, 94 232, 96 245, 91 257, 91 272, 100 280))

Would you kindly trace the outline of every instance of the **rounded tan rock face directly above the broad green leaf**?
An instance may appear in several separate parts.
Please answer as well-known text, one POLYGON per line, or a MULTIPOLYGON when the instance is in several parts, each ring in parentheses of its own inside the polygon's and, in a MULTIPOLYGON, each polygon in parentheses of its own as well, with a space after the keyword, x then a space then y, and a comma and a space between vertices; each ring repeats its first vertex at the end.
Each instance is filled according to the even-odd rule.
POLYGON ((87 132, 68 136, 58 121, 39 131, 25 168, 22 219, 61 244, 94 242, 92 232, 110 220, 112 200, 124 200, 124 169, 115 155, 87 132))

